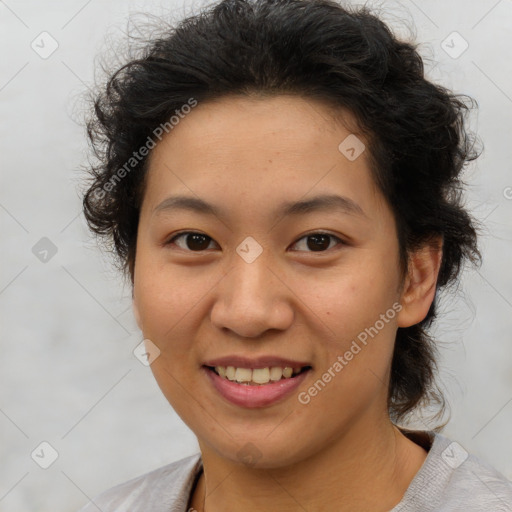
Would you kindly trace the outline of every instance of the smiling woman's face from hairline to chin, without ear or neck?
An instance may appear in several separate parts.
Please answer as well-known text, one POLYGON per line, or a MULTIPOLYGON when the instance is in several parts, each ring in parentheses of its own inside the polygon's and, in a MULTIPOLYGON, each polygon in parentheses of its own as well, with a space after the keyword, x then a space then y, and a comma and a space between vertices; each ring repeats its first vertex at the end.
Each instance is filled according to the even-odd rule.
POLYGON ((295 96, 226 97, 151 154, 135 313, 164 395, 225 459, 291 464, 387 419, 397 234, 367 150, 339 149, 344 119, 295 96), (210 366, 262 382, 301 373, 247 385, 210 366))

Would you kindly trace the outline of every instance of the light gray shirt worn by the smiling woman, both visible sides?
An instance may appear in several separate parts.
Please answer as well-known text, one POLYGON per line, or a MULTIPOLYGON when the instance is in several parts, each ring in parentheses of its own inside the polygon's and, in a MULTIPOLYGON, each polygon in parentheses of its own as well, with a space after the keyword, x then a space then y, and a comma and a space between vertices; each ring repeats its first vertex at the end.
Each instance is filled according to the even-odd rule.
MULTIPOLYGON (((389 512, 512 512, 512 482, 493 467, 440 434, 407 435, 428 455, 389 512)), ((79 512, 187 512, 202 469, 201 454, 192 455, 105 491, 79 512)))

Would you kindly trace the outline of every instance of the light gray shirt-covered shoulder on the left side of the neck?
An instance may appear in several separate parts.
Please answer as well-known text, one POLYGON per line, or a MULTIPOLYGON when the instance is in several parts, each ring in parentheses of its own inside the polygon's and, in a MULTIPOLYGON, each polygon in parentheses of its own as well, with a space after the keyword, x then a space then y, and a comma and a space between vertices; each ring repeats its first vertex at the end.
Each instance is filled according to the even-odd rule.
POLYGON ((191 455, 104 491, 79 512, 185 511, 201 468, 201 455, 191 455))

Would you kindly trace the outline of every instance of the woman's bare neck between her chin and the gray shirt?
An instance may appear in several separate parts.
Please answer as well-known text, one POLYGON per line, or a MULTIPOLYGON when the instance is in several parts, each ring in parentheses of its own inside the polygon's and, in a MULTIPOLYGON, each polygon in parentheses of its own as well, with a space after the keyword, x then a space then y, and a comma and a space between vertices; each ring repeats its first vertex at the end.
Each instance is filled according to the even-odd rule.
POLYGON ((389 420, 377 431, 354 428, 279 468, 247 467, 199 444, 204 472, 190 503, 197 512, 385 512, 400 502, 427 456, 389 420))

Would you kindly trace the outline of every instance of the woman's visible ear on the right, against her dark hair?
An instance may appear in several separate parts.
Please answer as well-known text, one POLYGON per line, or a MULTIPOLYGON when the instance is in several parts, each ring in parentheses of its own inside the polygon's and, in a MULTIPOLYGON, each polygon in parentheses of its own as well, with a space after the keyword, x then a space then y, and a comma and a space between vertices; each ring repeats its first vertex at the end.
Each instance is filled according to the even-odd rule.
POLYGON ((402 309, 397 316, 398 327, 410 327, 427 316, 436 294, 442 255, 443 239, 439 236, 409 256, 407 276, 400 296, 402 309))

